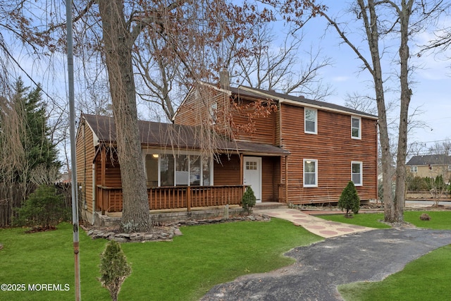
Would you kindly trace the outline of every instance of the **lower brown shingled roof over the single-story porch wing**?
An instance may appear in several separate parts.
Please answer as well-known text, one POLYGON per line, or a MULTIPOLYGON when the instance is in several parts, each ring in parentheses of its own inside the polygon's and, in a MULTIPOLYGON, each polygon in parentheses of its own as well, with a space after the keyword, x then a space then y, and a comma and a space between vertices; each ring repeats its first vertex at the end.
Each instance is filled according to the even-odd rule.
MULTIPOLYGON (((82 114, 89 128, 97 136, 99 142, 111 143, 116 141, 116 125, 112 117, 82 114)), ((189 125, 173 123, 157 123, 152 121, 138 121, 141 144, 154 147, 178 147, 179 149, 201 149, 199 128, 189 125)), ((245 154, 265 154, 267 156, 288 155, 285 149, 274 145, 254 142, 233 142, 219 140, 219 148, 223 152, 240 152, 245 154)))

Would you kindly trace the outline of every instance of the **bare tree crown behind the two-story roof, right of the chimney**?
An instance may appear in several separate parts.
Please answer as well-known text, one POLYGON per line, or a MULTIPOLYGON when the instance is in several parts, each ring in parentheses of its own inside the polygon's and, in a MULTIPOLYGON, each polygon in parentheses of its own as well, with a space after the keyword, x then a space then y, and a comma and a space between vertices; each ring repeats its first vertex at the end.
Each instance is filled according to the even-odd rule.
POLYGON ((318 100, 327 97, 330 86, 322 82, 319 72, 321 68, 330 66, 331 61, 321 57, 321 49, 301 51, 304 39, 297 35, 297 31, 289 30, 280 41, 283 33, 276 35, 269 24, 252 28, 253 39, 247 40, 242 47, 247 49, 247 55, 231 58, 232 81, 258 89, 303 94, 318 100))

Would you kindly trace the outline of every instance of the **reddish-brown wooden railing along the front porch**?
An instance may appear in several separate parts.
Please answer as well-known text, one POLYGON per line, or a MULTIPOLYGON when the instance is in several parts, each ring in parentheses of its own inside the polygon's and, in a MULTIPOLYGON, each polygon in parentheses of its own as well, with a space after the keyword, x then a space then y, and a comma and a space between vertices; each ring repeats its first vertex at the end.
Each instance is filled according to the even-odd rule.
MULTIPOLYGON (((193 207, 224 206, 241 204, 245 185, 222 186, 174 186, 147 188, 147 197, 151 210, 187 209, 193 207)), ((97 185, 97 209, 122 211, 122 188, 97 185)))

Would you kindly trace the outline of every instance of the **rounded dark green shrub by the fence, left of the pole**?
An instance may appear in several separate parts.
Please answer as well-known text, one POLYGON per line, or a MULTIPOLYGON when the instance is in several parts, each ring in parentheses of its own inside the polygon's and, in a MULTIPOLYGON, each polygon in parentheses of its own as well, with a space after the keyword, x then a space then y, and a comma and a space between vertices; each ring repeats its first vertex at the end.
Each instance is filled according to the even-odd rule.
POLYGON ((40 185, 17 212, 16 225, 42 229, 54 228, 68 216, 63 196, 52 185, 40 185))

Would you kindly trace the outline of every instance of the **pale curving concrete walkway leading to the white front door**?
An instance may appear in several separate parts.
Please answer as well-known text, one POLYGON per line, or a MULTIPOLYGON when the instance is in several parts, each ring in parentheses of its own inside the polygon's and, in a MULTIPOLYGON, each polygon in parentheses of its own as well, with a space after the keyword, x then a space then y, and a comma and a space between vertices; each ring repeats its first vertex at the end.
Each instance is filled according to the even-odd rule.
POLYGON ((254 209, 255 213, 266 214, 278 219, 291 221, 296 226, 302 226, 311 233, 323 238, 334 238, 336 236, 359 233, 374 230, 364 226, 350 225, 347 223, 338 223, 336 221, 326 221, 316 216, 311 216, 297 209, 276 208, 276 209, 254 209))

